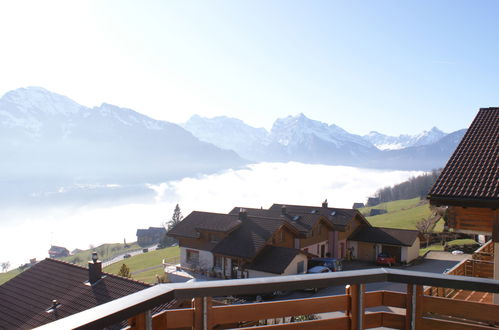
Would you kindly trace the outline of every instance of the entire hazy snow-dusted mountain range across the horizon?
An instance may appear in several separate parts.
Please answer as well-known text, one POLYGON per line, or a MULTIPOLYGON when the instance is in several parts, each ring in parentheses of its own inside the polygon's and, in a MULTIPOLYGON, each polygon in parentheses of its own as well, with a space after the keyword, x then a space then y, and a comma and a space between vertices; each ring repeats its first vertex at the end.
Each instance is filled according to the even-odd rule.
POLYGON ((159 182, 260 161, 430 170, 464 132, 360 136, 304 114, 277 119, 270 131, 197 115, 176 125, 29 87, 0 99, 0 182, 159 182))

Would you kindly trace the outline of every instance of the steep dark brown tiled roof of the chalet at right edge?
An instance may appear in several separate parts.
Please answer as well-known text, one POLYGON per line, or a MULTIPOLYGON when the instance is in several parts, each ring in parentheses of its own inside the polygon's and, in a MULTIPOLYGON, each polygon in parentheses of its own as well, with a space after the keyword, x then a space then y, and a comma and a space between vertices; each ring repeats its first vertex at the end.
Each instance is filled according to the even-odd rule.
POLYGON ((432 204, 499 206, 499 108, 480 109, 428 194, 432 204))

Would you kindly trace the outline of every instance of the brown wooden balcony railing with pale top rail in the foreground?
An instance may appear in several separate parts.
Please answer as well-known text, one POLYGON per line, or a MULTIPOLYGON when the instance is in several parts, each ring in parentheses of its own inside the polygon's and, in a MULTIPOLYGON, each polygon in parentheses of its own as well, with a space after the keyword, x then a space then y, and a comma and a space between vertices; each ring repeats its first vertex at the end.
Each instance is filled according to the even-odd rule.
MULTIPOLYGON (((431 297, 423 285, 499 293, 499 281, 440 274, 370 269, 317 275, 276 276, 254 279, 160 284, 84 312, 49 323, 42 329, 96 329, 129 320, 130 329, 226 329, 255 326, 254 329, 496 329, 499 305, 480 304, 431 297), (406 293, 365 292, 373 282, 407 285, 406 293), (259 294, 275 290, 349 285, 338 296, 214 306, 210 297, 259 294), (191 308, 151 310, 172 299, 193 299, 191 308), (370 312, 388 306, 401 312, 370 312), (336 317, 291 322, 297 315, 340 312, 336 317), (259 325, 260 320, 281 318, 285 323, 259 325)), ((296 319, 295 319, 296 320, 296 319)), ((253 328, 252 328, 253 329, 253 328)))

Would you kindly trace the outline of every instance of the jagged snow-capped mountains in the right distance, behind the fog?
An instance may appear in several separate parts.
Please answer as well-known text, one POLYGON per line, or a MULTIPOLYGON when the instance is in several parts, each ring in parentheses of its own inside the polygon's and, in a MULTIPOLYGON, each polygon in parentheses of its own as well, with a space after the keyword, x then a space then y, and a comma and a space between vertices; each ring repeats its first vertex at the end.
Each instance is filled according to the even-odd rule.
POLYGON ((300 161, 400 170, 442 167, 466 130, 446 134, 436 127, 417 135, 355 135, 304 114, 277 119, 270 132, 228 117, 193 116, 185 129, 200 140, 253 161, 300 161))

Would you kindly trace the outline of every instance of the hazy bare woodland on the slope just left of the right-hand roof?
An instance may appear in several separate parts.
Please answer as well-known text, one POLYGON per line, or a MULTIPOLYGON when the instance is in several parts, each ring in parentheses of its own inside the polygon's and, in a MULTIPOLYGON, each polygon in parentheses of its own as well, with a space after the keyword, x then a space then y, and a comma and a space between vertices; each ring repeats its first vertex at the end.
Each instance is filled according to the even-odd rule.
POLYGON ((380 203, 415 197, 424 198, 437 180, 440 172, 441 170, 433 170, 431 173, 412 177, 392 187, 381 188, 376 191, 375 196, 380 199, 380 203))

